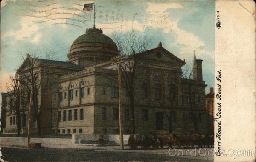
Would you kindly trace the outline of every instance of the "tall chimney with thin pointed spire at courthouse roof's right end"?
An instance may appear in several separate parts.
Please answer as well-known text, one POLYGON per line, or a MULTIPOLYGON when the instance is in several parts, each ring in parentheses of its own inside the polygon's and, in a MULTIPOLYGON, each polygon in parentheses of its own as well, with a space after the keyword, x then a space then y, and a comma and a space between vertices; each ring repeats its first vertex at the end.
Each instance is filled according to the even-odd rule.
POLYGON ((194 50, 193 79, 196 81, 203 81, 202 62, 203 60, 196 59, 194 50))

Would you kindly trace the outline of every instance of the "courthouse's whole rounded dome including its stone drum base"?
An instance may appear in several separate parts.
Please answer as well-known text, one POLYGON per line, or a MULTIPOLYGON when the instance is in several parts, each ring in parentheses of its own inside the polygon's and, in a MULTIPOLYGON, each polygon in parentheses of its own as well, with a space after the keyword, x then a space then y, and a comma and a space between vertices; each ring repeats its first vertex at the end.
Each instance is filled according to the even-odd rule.
POLYGON ((116 43, 104 35, 102 29, 93 27, 73 42, 67 57, 81 67, 90 67, 118 55, 116 43))

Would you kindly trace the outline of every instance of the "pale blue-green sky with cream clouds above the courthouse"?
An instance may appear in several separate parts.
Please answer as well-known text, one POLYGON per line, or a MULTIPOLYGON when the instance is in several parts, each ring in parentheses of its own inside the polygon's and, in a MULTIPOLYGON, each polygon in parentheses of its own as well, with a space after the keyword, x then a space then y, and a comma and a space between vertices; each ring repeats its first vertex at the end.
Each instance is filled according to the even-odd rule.
MULTIPOLYGON (((9 74, 33 49, 43 57, 67 61, 70 45, 93 27, 94 1, 1 1, 1 92, 9 74)), ((203 59, 203 80, 214 87, 215 1, 95 1, 96 28, 103 34, 137 31, 152 39, 151 48, 163 47, 187 64, 203 59)))

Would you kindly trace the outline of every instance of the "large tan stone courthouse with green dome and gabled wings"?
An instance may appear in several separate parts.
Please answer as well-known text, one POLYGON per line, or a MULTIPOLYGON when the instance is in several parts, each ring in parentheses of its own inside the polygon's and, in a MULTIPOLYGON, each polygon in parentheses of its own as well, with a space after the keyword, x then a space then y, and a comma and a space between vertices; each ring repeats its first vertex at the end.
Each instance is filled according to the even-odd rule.
MULTIPOLYGON (((41 108, 41 132, 50 134, 119 134, 119 106, 117 64, 119 50, 116 43, 90 28, 71 45, 68 61, 28 58, 18 73, 28 73, 26 61, 33 59, 41 69, 41 78, 52 83, 41 108)), ((192 56, 193 57, 193 56, 192 56)), ((195 56, 194 56, 195 57, 195 56)), ((193 78, 182 77, 185 62, 159 43, 158 47, 123 56, 136 58, 134 115, 136 134, 167 133, 169 118, 172 132, 207 132, 205 87, 202 60, 194 58, 193 78), (196 121, 195 121, 196 120, 196 121)), ((8 101, 8 98, 7 98, 8 101)), ((7 108, 8 109, 8 108, 7 108)), ((125 134, 131 134, 131 106, 129 96, 122 89, 122 116, 125 134)), ((22 133, 26 133, 27 112, 22 117, 22 133)), ((17 132, 15 114, 7 112, 4 132, 17 132)), ((32 112, 32 131, 36 130, 32 112)))

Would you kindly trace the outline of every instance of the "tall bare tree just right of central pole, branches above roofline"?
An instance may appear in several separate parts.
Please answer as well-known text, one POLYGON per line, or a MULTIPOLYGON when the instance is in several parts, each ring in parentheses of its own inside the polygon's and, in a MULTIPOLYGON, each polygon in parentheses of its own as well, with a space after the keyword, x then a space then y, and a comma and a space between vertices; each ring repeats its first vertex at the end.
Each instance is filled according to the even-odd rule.
POLYGON ((120 64, 122 87, 124 87, 130 99, 132 134, 135 134, 135 84, 139 75, 139 70, 137 70, 139 60, 136 53, 148 50, 151 45, 151 39, 134 31, 129 31, 125 34, 115 33, 112 35, 112 38, 114 42, 116 42, 119 54, 123 56, 124 59, 120 64))

